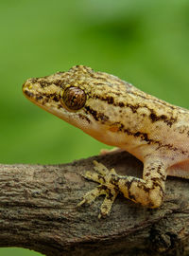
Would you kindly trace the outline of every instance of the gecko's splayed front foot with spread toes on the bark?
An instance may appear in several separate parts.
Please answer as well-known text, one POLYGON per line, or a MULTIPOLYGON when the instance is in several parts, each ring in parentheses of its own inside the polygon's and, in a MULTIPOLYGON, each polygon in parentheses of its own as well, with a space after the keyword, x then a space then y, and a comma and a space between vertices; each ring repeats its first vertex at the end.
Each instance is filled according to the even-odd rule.
POLYGON ((77 206, 81 206, 83 204, 91 204, 94 202, 96 197, 105 194, 105 199, 100 207, 100 213, 98 215, 98 218, 101 218, 102 216, 110 214, 112 204, 118 194, 118 191, 111 182, 112 175, 115 175, 116 173, 114 169, 109 171, 103 164, 98 163, 97 161, 94 161, 94 170, 96 173, 87 172, 83 176, 89 180, 100 183, 100 185, 91 192, 87 192, 83 196, 83 200, 78 203, 77 206))

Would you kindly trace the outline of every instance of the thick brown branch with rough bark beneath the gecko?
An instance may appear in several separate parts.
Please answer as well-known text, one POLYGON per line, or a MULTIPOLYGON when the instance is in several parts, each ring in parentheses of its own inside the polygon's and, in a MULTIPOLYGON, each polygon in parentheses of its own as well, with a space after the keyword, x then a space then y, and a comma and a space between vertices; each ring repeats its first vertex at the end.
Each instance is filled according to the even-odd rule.
POLYGON ((61 165, 0 165, 0 247, 47 256, 189 255, 189 180, 168 178, 158 210, 119 195, 111 215, 98 220, 102 197, 76 207, 96 186, 81 176, 93 169, 93 159, 119 174, 142 175, 142 164, 128 153, 61 165))

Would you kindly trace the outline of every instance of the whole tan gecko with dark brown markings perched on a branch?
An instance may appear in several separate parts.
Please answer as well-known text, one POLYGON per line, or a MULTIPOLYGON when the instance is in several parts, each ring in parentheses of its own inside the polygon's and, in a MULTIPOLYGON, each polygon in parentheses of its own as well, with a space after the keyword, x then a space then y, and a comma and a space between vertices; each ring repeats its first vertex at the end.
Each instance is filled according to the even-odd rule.
POLYGON ((143 162, 143 177, 138 178, 94 161, 95 172, 84 177, 99 185, 78 206, 105 195, 99 218, 110 214, 118 193, 153 209, 163 203, 167 175, 189 179, 189 110, 84 65, 28 79, 23 93, 47 112, 143 162))

